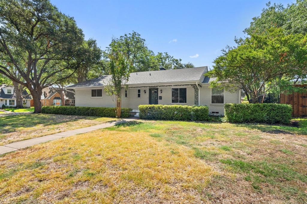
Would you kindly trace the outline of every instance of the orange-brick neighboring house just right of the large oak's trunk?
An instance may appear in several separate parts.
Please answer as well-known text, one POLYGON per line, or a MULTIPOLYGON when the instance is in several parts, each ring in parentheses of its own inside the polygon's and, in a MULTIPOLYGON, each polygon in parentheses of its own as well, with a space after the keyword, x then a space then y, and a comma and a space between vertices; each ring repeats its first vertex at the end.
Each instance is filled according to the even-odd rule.
MULTIPOLYGON (((62 100, 60 96, 60 89, 54 87, 47 87, 42 90, 41 95, 41 104, 42 106, 61 106, 62 100)), ((75 105, 75 95, 72 92, 64 90, 64 104, 65 106, 74 106, 75 105)), ((33 103, 33 101, 32 101, 33 103)))

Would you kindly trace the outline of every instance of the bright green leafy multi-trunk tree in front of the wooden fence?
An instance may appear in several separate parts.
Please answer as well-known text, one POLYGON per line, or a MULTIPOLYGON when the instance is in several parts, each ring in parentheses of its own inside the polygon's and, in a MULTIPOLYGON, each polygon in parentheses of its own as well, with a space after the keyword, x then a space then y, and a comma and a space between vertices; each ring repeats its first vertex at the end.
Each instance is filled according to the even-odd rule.
POLYGON ((285 35, 281 28, 270 28, 236 42, 238 46, 223 50, 214 60, 213 70, 207 73, 216 77, 212 87, 243 89, 255 103, 275 86, 306 77, 307 35, 285 35))

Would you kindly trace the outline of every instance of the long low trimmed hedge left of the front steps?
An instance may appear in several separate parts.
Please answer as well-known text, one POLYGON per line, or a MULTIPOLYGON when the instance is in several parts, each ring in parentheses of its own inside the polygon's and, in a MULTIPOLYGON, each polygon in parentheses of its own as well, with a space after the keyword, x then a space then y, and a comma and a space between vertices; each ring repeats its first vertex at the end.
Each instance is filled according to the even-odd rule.
MULTIPOLYGON (((122 108, 121 118, 129 117, 131 108, 122 108)), ((43 106, 42 113, 62 115, 86 115, 99 117, 116 117, 115 108, 106 107, 80 107, 80 106, 43 106)))

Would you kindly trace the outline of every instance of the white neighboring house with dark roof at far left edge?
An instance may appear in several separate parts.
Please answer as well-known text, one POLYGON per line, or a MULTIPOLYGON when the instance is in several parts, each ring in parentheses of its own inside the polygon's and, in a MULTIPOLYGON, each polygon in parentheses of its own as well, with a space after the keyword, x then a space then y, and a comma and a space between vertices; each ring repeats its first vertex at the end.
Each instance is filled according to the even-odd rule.
MULTIPOLYGON (((2 84, 0 85, 0 107, 2 107, 2 105, 6 105, 6 106, 12 106, 15 107, 16 106, 16 93, 15 93, 15 89, 14 86, 9 86, 9 85, 5 85, 2 84)), ((28 95, 28 93, 26 91, 23 91, 22 93, 23 96, 28 95)), ((31 96, 26 96, 23 99, 23 106, 24 107, 30 107, 30 100, 31 100, 31 96)))

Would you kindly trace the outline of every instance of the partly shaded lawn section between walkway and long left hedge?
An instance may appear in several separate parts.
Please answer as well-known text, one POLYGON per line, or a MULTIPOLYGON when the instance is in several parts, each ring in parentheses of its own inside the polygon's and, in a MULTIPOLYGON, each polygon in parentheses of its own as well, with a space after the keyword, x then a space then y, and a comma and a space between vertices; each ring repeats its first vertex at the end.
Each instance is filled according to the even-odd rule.
POLYGON ((114 118, 25 114, 0 118, 0 145, 115 120, 114 118))

